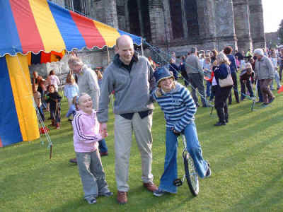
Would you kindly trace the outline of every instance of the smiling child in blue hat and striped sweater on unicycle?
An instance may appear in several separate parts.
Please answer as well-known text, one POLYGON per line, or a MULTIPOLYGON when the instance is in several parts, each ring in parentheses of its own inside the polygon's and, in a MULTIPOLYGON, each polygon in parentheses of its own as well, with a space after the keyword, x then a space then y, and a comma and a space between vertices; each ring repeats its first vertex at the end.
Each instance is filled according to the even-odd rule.
POLYGON ((195 105, 190 92, 180 83, 174 81, 173 76, 165 67, 154 72, 156 88, 151 97, 158 102, 166 119, 166 156, 164 172, 160 179, 158 190, 154 196, 162 196, 166 192, 176 193, 177 187, 173 181, 177 176, 177 137, 184 134, 187 140, 187 151, 192 156, 197 174, 201 177, 209 177, 212 172, 209 163, 202 158, 202 148, 197 139, 195 127, 195 105))

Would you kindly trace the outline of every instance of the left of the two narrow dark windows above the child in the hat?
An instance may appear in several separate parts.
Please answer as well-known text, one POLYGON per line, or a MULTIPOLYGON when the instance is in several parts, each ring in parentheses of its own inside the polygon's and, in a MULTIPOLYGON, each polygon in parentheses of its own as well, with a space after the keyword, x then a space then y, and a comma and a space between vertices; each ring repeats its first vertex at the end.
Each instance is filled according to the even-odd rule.
POLYGON ((170 0, 170 16, 173 38, 184 37, 182 1, 170 0))

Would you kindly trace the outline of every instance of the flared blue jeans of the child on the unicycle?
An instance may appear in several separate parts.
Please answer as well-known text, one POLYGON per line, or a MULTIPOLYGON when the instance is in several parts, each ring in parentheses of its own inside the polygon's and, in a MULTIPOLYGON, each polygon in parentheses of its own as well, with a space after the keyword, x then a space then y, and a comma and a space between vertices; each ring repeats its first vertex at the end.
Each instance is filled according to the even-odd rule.
MULTIPOLYGON (((197 174, 204 178, 207 172, 207 161, 202 158, 202 148, 197 139, 197 129, 195 127, 195 122, 187 124, 183 134, 187 139, 187 151, 192 156, 192 160, 195 164, 195 169, 197 174)), ((178 178, 177 171, 177 148, 178 141, 177 136, 173 133, 171 129, 166 129, 166 155, 164 162, 164 172, 160 179, 159 189, 170 192, 177 193, 177 187, 174 186, 173 181, 178 178)))

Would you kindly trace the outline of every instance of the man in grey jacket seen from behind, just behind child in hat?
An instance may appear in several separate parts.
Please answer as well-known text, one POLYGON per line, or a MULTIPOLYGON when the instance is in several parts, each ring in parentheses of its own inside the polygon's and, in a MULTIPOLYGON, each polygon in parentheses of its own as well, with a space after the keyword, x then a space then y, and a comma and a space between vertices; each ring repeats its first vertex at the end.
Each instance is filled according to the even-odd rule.
POLYGON ((195 105, 199 107, 198 97, 196 94, 196 89, 202 95, 200 98, 202 100, 202 107, 207 107, 204 94, 204 74, 202 72, 202 66, 200 65, 199 58, 197 57, 197 48, 192 47, 190 50, 190 55, 185 61, 185 70, 187 72, 187 77, 189 78, 190 84, 192 85, 192 98, 195 101, 195 105))

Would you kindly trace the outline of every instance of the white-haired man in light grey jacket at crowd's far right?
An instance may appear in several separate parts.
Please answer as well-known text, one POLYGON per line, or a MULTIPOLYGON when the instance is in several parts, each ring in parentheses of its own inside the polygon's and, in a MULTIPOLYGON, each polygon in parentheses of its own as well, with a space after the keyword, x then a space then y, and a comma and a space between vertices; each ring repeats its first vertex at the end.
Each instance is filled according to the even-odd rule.
POLYGON ((260 91, 262 93, 263 105, 268 105, 275 100, 275 95, 270 90, 270 82, 275 77, 272 61, 264 56, 262 49, 255 49, 255 78, 260 81, 260 91))

